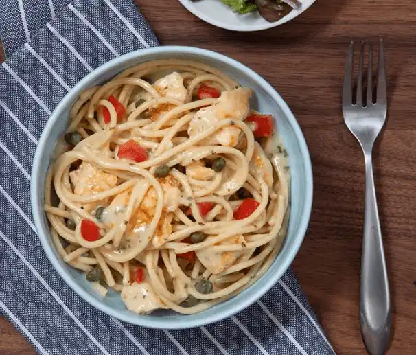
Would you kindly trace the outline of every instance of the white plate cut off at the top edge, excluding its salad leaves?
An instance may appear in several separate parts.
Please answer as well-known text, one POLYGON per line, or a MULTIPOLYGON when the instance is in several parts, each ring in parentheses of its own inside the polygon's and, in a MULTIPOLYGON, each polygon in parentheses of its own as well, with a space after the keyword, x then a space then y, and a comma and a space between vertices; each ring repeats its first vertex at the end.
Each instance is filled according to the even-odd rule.
POLYGON ((211 25, 222 27, 233 31, 258 31, 276 27, 286 23, 312 5, 315 0, 300 0, 301 8, 292 10, 288 15, 276 22, 268 22, 259 15, 257 11, 249 14, 238 14, 233 12, 229 6, 224 5, 220 0, 179 0, 182 5, 192 14, 211 25))

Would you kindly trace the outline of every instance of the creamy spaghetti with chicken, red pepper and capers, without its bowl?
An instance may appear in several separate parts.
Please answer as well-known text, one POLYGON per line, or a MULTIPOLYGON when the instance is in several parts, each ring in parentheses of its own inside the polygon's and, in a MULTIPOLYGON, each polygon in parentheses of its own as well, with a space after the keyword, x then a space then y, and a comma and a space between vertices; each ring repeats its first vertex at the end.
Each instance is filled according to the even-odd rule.
POLYGON ((286 236, 290 173, 252 96, 179 59, 84 91, 45 184, 63 260, 140 314, 201 312, 259 279, 286 236))

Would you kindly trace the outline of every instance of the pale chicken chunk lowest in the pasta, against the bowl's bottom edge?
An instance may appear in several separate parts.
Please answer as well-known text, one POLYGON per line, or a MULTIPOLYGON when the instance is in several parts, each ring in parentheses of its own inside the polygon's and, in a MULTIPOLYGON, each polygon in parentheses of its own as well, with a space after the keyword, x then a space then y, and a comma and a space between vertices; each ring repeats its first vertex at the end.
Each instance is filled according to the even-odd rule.
POLYGON ((150 282, 137 282, 130 286, 124 286, 122 300, 128 310, 138 314, 149 314, 160 308, 167 309, 167 306, 154 292, 150 282))

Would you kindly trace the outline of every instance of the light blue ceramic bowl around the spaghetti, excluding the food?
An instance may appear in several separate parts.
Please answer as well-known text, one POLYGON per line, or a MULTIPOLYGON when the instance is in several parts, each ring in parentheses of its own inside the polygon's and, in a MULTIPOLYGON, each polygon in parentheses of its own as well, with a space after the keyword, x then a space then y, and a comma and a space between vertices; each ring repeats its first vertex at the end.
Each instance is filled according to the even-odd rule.
MULTIPOLYGON (((58 273, 78 295, 99 310, 128 323, 150 328, 191 328, 231 317, 231 315, 250 306, 270 290, 288 269, 308 228, 312 207, 312 168, 308 147, 296 119, 284 100, 266 80, 240 62, 213 51, 192 47, 157 47, 134 51, 107 62, 81 80, 63 98, 49 118, 38 143, 32 168, 31 195, 34 222, 43 248, 58 273), (167 310, 149 315, 139 315, 126 309, 119 293, 111 290, 107 297, 98 295, 91 289, 91 285, 86 281, 84 275, 63 262, 58 255, 52 242, 47 218, 43 212, 45 175, 51 159, 51 152, 56 140, 65 131, 69 110, 78 95, 89 87, 106 82, 132 65, 161 58, 189 58, 205 62, 227 73, 243 86, 251 87, 255 92, 253 106, 258 111, 273 114, 276 118, 277 128, 290 154, 290 168, 292 170, 292 203, 288 236, 286 236, 284 246, 275 262, 261 279, 240 295, 209 310, 192 315, 177 314, 167 310)), ((279 302, 279 299, 276 299, 276 302, 279 302)))

